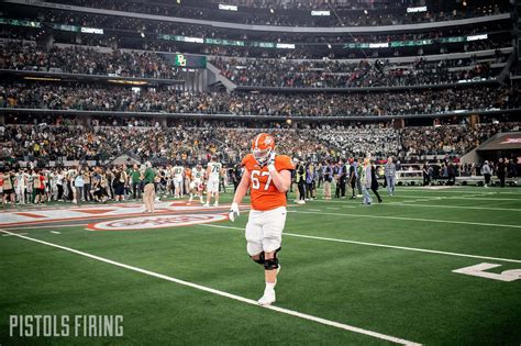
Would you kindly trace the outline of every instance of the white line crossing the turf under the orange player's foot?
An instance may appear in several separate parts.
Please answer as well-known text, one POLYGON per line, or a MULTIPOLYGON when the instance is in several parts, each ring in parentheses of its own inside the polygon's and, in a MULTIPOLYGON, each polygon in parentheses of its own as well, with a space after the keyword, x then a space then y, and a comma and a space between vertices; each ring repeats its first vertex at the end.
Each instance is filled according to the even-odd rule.
POLYGON ((119 261, 115 261, 115 260, 111 260, 111 259, 108 259, 108 258, 103 258, 103 257, 100 257, 100 256, 96 256, 96 255, 92 255, 92 254, 80 252, 80 250, 77 250, 77 249, 74 249, 74 248, 70 248, 70 247, 66 247, 66 246, 57 245, 57 244, 54 244, 54 243, 48 243, 48 242, 35 239, 35 238, 32 238, 32 237, 29 237, 29 236, 23 236, 23 235, 19 235, 19 234, 15 234, 15 233, 11 233, 11 232, 4 231, 4 230, 0 230, 0 232, 2 232, 4 234, 10 234, 12 236, 15 236, 15 237, 19 237, 19 238, 22 238, 22 239, 26 239, 26 241, 30 241, 30 242, 35 242, 35 243, 40 243, 40 244, 43 244, 43 245, 46 245, 46 246, 56 247, 56 248, 59 248, 59 249, 63 249, 63 250, 66 250, 66 252, 69 252, 69 253, 76 254, 76 255, 80 255, 80 256, 84 256, 84 257, 96 259, 96 260, 99 260, 99 261, 102 261, 102 263, 106 263, 106 264, 109 264, 109 265, 113 265, 113 266, 117 266, 117 267, 120 267, 120 268, 129 269, 129 270, 132 270, 132 271, 136 271, 136 272, 141 272, 141 274, 151 276, 151 277, 155 277, 155 278, 158 278, 158 279, 163 279, 163 280, 167 280, 167 281, 175 282, 175 283, 178 283, 178 284, 182 284, 182 286, 186 286, 186 287, 190 287, 190 288, 193 288, 193 289, 197 289, 197 290, 200 290, 200 291, 209 292, 209 293, 217 294, 217 295, 220 295, 220 297, 225 297, 225 298, 233 299, 233 300, 236 300, 236 301, 240 301, 240 302, 243 302, 243 303, 246 303, 246 304, 255 305, 255 306, 258 306, 258 308, 264 308, 264 309, 277 311, 277 312, 280 312, 280 313, 284 313, 284 314, 287 314, 287 315, 291 315, 291 316, 296 316, 296 317, 299 317, 299 319, 302 319, 302 320, 308 320, 308 321, 317 322, 317 323, 324 324, 324 325, 328 325, 328 326, 336 327, 336 328, 340 328, 340 330, 344 330, 344 331, 348 331, 348 332, 353 332, 353 333, 357 333, 357 334, 363 334, 363 335, 367 335, 367 336, 372 336, 372 337, 379 338, 379 339, 387 341, 387 342, 391 342, 391 343, 395 343, 395 344, 411 345, 411 346, 421 345, 421 344, 418 344, 418 343, 406 341, 403 338, 399 338, 399 337, 395 337, 395 336, 390 336, 390 335, 386 335, 386 334, 380 334, 380 333, 373 332, 373 331, 363 330, 363 328, 355 327, 355 326, 352 326, 352 325, 348 325, 348 324, 343 324, 343 323, 340 323, 340 322, 317 317, 317 316, 313 316, 313 315, 304 314, 304 313, 293 311, 293 310, 289 310, 289 309, 285 309, 285 308, 279 308, 279 306, 274 306, 274 305, 260 306, 260 305, 258 305, 258 303, 255 300, 252 300, 252 299, 248 299, 248 298, 244 298, 244 297, 232 294, 232 293, 229 293, 229 292, 215 290, 215 289, 212 289, 212 288, 209 288, 209 287, 206 287, 206 286, 201 286, 201 284, 197 284, 197 283, 193 283, 193 282, 176 279, 176 278, 173 278, 173 277, 169 277, 169 276, 166 276, 166 275, 163 275, 163 274, 149 271, 149 270, 146 270, 146 269, 129 266, 129 265, 125 265, 125 264, 122 264, 122 263, 119 263, 119 261))

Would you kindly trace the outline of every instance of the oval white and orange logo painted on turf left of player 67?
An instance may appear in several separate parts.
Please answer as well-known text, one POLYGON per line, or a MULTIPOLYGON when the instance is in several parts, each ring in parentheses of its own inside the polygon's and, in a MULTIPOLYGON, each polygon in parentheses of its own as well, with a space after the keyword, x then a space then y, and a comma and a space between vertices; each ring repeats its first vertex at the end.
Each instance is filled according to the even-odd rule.
POLYGON ((92 231, 135 231, 189 226, 222 220, 226 220, 226 216, 220 214, 151 215, 92 223, 87 227, 92 231))

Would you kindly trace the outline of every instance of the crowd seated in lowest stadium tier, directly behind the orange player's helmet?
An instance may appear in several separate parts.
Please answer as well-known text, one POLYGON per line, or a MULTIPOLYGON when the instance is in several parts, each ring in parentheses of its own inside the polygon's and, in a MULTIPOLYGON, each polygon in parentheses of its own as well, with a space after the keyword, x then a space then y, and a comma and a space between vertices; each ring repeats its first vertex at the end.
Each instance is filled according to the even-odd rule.
MULTIPOLYGON (((195 121, 188 124, 195 124, 195 121)), ((140 161, 193 165, 206 163, 210 155, 236 164, 247 153, 258 129, 241 123, 208 122, 197 127, 185 123, 169 127, 21 125, 0 127, 0 160, 7 163, 93 160, 104 163, 128 154, 140 161), (234 127, 230 127, 234 125, 234 127)), ((402 161, 424 155, 459 156, 498 132, 520 131, 520 123, 443 125, 393 130, 383 125, 319 125, 307 129, 271 127, 281 153, 322 160, 370 153, 376 158, 389 155, 402 161)))

